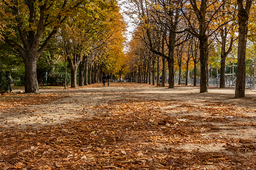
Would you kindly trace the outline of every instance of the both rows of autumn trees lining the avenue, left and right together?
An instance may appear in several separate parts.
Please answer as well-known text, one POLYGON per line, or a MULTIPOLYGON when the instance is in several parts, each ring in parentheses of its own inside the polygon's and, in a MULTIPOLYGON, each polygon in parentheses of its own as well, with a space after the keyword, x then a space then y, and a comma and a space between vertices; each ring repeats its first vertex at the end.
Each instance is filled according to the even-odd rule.
POLYGON ((126 23, 117 1, 0 3, 1 70, 10 71, 15 85, 28 93, 39 92, 47 73, 48 83, 72 88, 98 83, 104 73, 153 85, 161 78, 162 86, 174 88, 183 71, 186 85, 191 72, 193 85, 200 78, 200 92, 207 92, 210 71, 216 70, 225 88, 232 63, 237 65, 235 96, 244 97, 246 76, 255 76, 251 0, 123 2, 136 25, 126 49, 126 23))

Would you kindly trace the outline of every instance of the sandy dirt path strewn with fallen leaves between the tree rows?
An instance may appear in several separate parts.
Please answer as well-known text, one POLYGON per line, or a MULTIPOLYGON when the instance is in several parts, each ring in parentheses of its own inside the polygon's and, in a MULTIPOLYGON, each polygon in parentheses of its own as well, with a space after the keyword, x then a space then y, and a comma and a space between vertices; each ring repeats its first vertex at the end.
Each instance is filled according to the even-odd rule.
MULTIPOLYGON (((49 126, 51 129, 62 127, 65 133, 72 134, 68 124, 85 126, 87 122, 88 133, 95 137, 93 142, 86 144, 80 139, 80 149, 90 150, 87 155, 82 152, 86 159, 81 159, 82 155, 75 159, 73 151, 68 154, 80 167, 84 164, 85 169, 256 167, 255 90, 246 90, 245 98, 236 99, 232 88, 209 88, 208 93, 199 94, 199 87, 168 89, 133 83, 111 85, 101 87, 96 84, 90 88, 66 91, 41 90, 42 94, 68 97, 0 113, 0 134, 7 137, 10 131, 19 129, 22 133, 37 134, 49 126), (106 131, 102 131, 104 128, 106 131), (109 145, 105 146, 108 142, 109 145), (92 148, 98 148, 98 151, 92 148), (115 158, 117 155, 113 156, 114 151, 119 156, 118 160, 115 158), (105 159, 100 160, 96 156, 100 153, 113 156, 113 160, 106 156, 101 156, 105 159), (93 158, 89 159, 92 155, 93 158)), ((7 148, 0 146, 1 150, 6 151, 7 148)), ((33 152, 31 148, 29 150, 33 152)), ((65 159, 68 155, 64 156, 65 159)), ((0 156, 0 168, 1 164, 3 167, 16 166, 17 163, 20 167, 25 166, 21 160, 7 163, 6 158, 0 156)), ((42 164, 36 166, 42 169, 70 168, 60 160, 46 167, 42 164)))

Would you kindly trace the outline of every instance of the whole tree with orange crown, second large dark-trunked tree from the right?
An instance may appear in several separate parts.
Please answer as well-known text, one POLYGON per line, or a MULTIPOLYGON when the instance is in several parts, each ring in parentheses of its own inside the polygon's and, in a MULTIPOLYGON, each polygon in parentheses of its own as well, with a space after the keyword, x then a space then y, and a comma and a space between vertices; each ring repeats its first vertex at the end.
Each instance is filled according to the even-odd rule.
POLYGON ((226 1, 189 0, 183 4, 183 14, 188 21, 187 31, 199 39, 200 50, 200 92, 207 92, 208 86, 208 39, 226 24, 216 27, 215 20, 222 15, 221 7, 226 1))

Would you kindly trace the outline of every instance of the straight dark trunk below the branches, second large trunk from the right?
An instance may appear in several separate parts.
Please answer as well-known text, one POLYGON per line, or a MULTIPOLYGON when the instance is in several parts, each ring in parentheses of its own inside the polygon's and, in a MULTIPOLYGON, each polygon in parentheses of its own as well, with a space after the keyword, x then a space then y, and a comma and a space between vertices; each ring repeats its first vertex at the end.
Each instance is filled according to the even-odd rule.
POLYGON ((207 36, 200 36, 199 37, 200 45, 200 93, 208 92, 207 85, 208 85, 208 39, 207 36))

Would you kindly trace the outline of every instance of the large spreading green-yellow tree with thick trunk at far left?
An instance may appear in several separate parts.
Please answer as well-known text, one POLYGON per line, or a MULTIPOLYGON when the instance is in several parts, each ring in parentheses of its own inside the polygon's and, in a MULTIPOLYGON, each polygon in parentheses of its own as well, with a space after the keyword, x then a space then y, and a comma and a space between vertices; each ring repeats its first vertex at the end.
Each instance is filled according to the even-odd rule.
POLYGON ((36 62, 60 24, 75 14, 80 1, 1 1, 1 40, 12 46, 25 64, 25 92, 38 93, 36 62), (18 35, 18 36, 15 36, 18 35))

